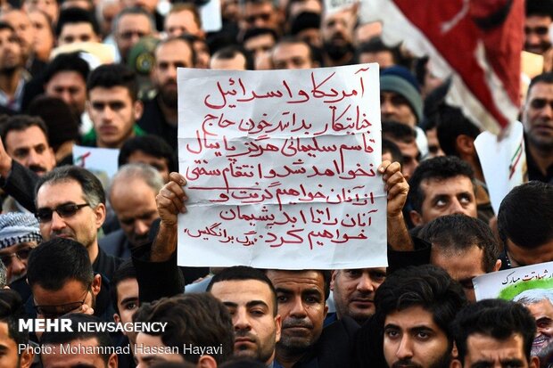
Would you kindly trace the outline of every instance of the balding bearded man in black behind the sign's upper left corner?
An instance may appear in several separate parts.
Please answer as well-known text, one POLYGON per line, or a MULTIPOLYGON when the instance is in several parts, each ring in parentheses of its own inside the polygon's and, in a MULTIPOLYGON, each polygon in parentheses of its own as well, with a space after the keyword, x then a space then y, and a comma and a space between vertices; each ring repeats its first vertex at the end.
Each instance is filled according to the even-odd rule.
POLYGON ((154 56, 151 79, 158 93, 144 102, 138 125, 177 150, 177 68, 194 67, 194 50, 185 38, 170 37, 157 45, 154 56))

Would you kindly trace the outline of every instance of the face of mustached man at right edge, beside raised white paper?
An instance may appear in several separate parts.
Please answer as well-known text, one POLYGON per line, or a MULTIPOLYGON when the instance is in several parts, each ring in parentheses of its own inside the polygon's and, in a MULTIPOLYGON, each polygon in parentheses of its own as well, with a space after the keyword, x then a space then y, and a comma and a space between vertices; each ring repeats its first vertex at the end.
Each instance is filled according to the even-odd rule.
POLYGON ((532 148, 539 151, 553 150, 553 84, 536 83, 528 91, 523 125, 532 148))

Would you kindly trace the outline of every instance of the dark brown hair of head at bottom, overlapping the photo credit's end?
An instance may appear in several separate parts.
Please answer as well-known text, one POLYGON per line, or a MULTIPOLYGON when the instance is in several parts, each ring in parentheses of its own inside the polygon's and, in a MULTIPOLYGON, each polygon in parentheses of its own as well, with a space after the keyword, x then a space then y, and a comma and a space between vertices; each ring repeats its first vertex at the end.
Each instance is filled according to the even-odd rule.
POLYGON ((161 336, 167 347, 177 348, 187 362, 198 363, 200 355, 185 354, 184 344, 200 347, 222 347, 212 356, 218 364, 233 355, 234 327, 225 307, 210 293, 178 295, 145 303, 133 316, 135 322, 168 323, 165 331, 149 333, 161 336))

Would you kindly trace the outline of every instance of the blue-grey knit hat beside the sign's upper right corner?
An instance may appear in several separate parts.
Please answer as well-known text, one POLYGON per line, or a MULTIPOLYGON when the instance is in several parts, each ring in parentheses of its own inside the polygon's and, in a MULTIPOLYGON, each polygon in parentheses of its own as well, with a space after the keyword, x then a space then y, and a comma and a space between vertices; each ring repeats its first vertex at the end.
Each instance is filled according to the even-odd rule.
POLYGON ((423 98, 417 79, 406 68, 395 66, 386 68, 380 74, 380 90, 401 94, 417 117, 417 123, 423 120, 423 98))

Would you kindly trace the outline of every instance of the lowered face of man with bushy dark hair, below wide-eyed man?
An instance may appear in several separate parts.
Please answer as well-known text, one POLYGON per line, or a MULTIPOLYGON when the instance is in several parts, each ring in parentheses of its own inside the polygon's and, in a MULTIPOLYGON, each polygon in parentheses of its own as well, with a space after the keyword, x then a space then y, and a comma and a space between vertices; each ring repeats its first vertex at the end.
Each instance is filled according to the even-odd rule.
POLYGON ((476 245, 463 251, 442 249, 433 245, 430 253, 430 263, 446 270, 453 280, 458 281, 463 286, 466 298, 475 302, 473 279, 486 273, 483 269, 483 257, 483 249, 476 245))

